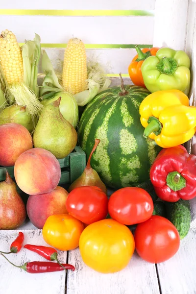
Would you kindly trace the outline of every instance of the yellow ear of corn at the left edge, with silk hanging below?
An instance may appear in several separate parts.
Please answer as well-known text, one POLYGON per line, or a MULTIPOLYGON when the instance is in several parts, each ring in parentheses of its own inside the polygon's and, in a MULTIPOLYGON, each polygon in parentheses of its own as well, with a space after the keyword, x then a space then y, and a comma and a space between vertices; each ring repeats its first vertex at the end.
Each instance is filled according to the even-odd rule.
POLYGON ((0 35, 0 65, 9 85, 23 79, 21 47, 15 35, 7 29, 0 35))

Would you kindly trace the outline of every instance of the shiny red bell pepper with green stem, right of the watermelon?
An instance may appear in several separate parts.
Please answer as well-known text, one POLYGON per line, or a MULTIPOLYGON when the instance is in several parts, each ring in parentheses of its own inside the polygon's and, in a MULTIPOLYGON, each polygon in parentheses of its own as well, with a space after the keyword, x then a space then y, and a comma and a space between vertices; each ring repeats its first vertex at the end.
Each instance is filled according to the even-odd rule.
POLYGON ((162 149, 150 168, 150 180, 162 200, 176 202, 196 196, 196 155, 182 145, 162 149))

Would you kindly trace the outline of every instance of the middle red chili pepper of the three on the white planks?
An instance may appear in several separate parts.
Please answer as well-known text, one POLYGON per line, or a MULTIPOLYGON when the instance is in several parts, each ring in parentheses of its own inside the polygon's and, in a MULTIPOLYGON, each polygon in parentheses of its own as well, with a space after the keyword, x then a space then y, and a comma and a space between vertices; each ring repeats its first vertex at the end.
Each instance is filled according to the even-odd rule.
POLYGON ((38 253, 49 261, 57 261, 57 263, 61 266, 61 263, 59 262, 57 257, 58 252, 56 249, 48 246, 38 246, 30 244, 26 244, 24 247, 28 250, 38 253))

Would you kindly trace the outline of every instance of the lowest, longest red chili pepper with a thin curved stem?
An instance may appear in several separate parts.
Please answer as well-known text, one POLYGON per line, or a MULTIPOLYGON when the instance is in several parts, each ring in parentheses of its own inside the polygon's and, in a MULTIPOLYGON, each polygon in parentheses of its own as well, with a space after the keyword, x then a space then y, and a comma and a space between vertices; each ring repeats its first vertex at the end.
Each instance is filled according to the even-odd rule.
POLYGON ((72 270, 74 271, 75 268, 72 265, 69 264, 63 264, 63 267, 61 267, 58 263, 54 262, 48 262, 48 261, 32 261, 32 262, 26 262, 22 266, 16 266, 13 264, 7 257, 2 255, 7 261, 13 265, 16 268, 25 270, 29 273, 42 273, 42 272, 52 272, 52 271, 60 271, 60 270, 72 270))

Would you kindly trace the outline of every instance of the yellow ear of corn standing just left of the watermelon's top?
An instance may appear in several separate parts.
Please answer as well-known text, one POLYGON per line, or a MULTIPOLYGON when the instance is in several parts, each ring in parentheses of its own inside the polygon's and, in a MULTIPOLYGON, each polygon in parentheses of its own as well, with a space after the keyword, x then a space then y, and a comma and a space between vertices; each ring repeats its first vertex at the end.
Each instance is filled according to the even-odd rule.
POLYGON ((86 88, 87 63, 84 43, 70 39, 65 50, 62 81, 66 91, 71 94, 82 92, 86 88))

